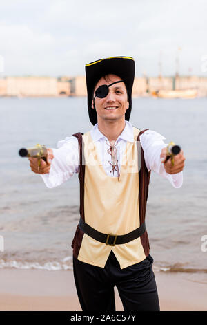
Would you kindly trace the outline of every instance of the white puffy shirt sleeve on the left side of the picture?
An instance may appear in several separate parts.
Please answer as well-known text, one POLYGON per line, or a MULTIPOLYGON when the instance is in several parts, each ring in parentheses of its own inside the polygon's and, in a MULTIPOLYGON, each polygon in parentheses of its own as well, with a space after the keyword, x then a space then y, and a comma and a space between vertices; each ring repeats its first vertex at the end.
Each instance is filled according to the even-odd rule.
POLYGON ((52 148, 54 158, 48 174, 41 175, 48 188, 57 187, 79 173, 79 144, 74 136, 57 142, 52 148))

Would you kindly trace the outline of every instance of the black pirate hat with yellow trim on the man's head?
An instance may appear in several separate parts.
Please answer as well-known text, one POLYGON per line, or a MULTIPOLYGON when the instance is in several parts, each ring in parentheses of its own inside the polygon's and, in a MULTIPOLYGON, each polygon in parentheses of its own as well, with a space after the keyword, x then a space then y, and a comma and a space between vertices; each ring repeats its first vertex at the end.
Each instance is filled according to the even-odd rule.
POLYGON ((128 91, 129 107, 125 120, 130 119, 132 110, 132 86, 135 79, 135 61, 132 57, 108 57, 86 64, 86 86, 88 93, 88 114, 90 122, 97 123, 97 112, 92 109, 92 97, 95 85, 104 75, 117 75, 124 81, 128 91))

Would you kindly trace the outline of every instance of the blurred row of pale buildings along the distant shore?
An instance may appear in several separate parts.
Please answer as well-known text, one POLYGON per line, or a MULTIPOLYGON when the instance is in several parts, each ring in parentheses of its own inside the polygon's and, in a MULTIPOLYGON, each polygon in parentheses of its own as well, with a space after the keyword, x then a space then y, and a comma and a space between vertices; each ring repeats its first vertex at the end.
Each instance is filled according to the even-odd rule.
MULTIPOLYGON (((132 97, 157 96, 189 91, 195 97, 207 97, 207 77, 135 77, 132 97)), ((166 97, 168 97, 168 95, 166 97)), ((77 77, 4 77, 0 79, 0 97, 86 96, 86 78, 77 77)))

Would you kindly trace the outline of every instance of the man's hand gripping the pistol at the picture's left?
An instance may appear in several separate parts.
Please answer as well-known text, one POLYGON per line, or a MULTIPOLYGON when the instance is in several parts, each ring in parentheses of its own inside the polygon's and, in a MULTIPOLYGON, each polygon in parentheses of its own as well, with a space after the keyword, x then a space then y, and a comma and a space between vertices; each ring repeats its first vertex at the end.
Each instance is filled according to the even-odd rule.
POLYGON ((47 149, 48 155, 47 155, 47 162, 43 159, 40 160, 41 165, 38 164, 37 158, 28 158, 30 160, 30 167, 32 171, 36 174, 48 174, 50 172, 50 167, 52 163, 52 159, 54 158, 52 149, 47 149))

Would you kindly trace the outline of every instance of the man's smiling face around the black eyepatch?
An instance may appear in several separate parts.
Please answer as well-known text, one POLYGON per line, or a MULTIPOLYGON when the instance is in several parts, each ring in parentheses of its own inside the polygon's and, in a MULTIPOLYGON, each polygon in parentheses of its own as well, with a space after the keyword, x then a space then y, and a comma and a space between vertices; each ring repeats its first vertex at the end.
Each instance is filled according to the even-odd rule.
MULTIPOLYGON (((102 86, 103 84, 110 85, 113 82, 120 80, 121 78, 117 75, 107 75, 105 77, 101 77, 95 86, 93 97, 95 97, 95 91, 99 88, 99 86, 102 86)), ((95 99, 92 100, 92 109, 96 109, 97 111, 98 122, 100 120, 125 120, 125 113, 128 107, 128 94, 124 82, 119 82, 109 86, 108 95, 106 95, 106 97, 95 97, 95 99)))

